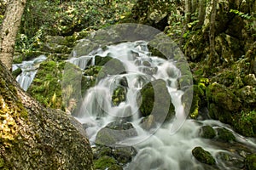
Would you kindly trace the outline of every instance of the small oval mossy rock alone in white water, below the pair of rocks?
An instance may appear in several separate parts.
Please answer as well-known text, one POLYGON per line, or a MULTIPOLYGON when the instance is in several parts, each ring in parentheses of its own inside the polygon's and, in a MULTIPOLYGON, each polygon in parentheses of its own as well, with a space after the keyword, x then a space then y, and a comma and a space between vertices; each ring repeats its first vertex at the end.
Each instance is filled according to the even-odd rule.
POLYGON ((211 153, 208 152, 207 150, 202 149, 201 147, 195 147, 192 150, 192 154, 198 161, 202 163, 206 163, 208 165, 216 164, 216 161, 212 157, 211 153))

